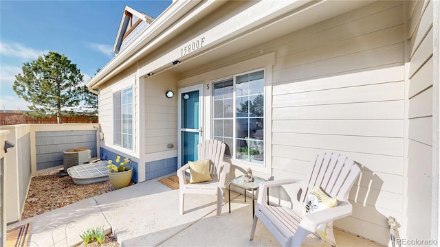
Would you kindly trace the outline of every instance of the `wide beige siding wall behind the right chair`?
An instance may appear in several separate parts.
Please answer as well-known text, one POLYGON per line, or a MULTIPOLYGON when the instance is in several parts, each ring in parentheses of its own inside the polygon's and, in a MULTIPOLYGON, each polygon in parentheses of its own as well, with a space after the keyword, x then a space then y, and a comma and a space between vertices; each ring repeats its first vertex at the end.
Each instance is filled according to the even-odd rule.
POLYGON ((362 176, 353 215, 335 225, 387 244, 386 217, 402 219, 403 3, 378 1, 276 42, 274 178, 303 178, 319 152, 349 156, 362 176))

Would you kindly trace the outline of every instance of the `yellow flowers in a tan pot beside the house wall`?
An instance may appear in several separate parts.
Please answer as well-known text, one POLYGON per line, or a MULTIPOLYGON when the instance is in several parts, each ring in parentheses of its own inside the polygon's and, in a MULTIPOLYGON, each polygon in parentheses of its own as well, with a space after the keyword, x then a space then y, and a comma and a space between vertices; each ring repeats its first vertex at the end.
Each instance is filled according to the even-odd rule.
POLYGON ((120 162, 121 156, 116 156, 115 163, 109 160, 107 168, 109 168, 109 180, 111 186, 114 189, 120 189, 126 187, 131 182, 131 176, 133 175, 133 167, 127 166, 127 163, 131 163, 129 158, 124 158, 124 161, 120 162))

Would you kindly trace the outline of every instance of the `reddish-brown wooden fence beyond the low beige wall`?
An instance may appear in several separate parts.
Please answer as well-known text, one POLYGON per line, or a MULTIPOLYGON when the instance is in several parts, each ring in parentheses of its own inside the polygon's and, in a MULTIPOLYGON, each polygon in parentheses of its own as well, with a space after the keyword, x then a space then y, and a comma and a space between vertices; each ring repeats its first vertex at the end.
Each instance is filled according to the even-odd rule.
MULTIPOLYGON (((61 117, 63 124, 95 124, 98 123, 98 116, 83 115, 74 117, 61 117)), ((0 113, 0 126, 14 124, 57 124, 56 117, 33 118, 23 113, 0 113)))

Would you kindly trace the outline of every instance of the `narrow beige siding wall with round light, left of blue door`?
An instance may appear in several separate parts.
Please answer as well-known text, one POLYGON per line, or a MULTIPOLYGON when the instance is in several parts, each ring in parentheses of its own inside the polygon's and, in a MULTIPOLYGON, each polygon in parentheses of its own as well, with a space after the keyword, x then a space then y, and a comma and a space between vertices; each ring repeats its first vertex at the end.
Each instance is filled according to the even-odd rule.
MULTIPOLYGON (((152 160, 177 156, 177 77, 174 73, 162 73, 145 78, 145 154, 164 152, 152 160), (165 92, 171 90, 174 97, 168 99, 165 92), (174 148, 168 148, 168 143, 174 148)), ((148 160, 151 160, 149 158, 148 160)))

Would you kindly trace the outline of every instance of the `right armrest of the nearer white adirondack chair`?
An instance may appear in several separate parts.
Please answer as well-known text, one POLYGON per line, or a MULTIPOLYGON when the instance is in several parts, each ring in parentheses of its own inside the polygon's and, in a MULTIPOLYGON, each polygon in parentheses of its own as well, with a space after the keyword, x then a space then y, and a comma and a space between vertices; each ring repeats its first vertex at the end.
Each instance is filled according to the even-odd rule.
POLYGON ((338 206, 336 207, 304 215, 300 226, 307 231, 314 232, 320 224, 332 222, 333 220, 351 215, 352 211, 353 207, 350 202, 338 201, 338 206))

